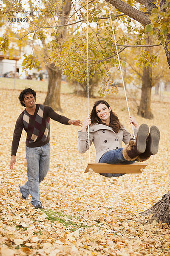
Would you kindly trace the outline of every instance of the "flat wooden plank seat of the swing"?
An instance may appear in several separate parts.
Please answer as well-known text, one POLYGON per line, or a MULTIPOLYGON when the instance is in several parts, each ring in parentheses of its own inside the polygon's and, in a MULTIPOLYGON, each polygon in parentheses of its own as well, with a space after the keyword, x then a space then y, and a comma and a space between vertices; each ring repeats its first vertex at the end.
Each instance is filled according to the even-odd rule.
POLYGON ((133 164, 108 164, 108 163, 88 163, 85 173, 93 171, 95 173, 142 173, 147 165, 143 163, 133 164))

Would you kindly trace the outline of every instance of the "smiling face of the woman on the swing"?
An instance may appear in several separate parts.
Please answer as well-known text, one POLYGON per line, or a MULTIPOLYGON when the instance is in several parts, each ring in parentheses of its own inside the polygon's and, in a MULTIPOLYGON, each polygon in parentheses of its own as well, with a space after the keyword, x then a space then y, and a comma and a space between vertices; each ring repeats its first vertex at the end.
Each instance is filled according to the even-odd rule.
POLYGON ((109 125, 110 123, 110 112, 111 112, 111 107, 108 108, 103 103, 96 106, 97 116, 101 119, 102 122, 105 122, 107 125, 109 125))

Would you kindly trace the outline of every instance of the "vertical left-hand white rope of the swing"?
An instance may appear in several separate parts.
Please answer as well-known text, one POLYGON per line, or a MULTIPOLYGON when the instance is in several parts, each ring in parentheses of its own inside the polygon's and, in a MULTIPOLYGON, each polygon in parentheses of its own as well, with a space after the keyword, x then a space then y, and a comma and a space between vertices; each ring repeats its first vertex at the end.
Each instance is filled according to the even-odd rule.
MULTIPOLYGON (((87 0, 87 65, 88 65, 88 0, 87 0)), ((87 66, 88 69, 88 66, 87 66)), ((89 73, 88 73, 89 80, 89 73)), ((88 116, 89 116, 89 82, 88 82, 88 116)), ((88 125, 88 161, 90 163, 90 133, 89 133, 89 125, 88 125)))

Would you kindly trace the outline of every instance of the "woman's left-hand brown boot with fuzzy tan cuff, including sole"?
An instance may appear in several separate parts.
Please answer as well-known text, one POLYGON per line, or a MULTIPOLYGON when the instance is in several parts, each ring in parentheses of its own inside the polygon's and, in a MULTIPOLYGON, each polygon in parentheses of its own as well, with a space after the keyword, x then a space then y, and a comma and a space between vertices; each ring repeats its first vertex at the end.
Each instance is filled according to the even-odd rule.
POLYGON ((123 148, 123 157, 132 161, 135 160, 139 154, 144 153, 146 149, 146 139, 149 133, 149 127, 146 124, 139 126, 136 141, 130 140, 129 143, 123 148))

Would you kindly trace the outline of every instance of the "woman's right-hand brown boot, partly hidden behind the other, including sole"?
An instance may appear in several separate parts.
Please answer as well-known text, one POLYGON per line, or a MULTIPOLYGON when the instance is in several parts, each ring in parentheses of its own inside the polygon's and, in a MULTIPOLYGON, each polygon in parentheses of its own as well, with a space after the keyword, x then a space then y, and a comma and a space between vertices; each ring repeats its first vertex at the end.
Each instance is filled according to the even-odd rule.
POLYGON ((156 154, 158 152, 159 140, 160 131, 155 125, 152 125, 150 127, 150 133, 147 138, 146 150, 136 158, 139 161, 145 161, 149 159, 151 155, 156 154))

